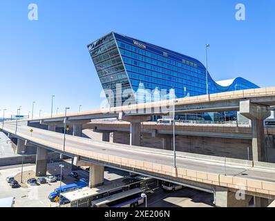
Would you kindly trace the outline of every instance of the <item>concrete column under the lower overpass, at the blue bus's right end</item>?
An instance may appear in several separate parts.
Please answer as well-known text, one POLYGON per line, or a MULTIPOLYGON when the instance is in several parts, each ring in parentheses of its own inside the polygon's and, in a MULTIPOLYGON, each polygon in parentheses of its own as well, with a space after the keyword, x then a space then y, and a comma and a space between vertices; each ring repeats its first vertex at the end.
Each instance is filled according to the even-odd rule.
POLYGON ((101 186, 104 183, 104 166, 91 164, 89 174, 89 187, 101 186))

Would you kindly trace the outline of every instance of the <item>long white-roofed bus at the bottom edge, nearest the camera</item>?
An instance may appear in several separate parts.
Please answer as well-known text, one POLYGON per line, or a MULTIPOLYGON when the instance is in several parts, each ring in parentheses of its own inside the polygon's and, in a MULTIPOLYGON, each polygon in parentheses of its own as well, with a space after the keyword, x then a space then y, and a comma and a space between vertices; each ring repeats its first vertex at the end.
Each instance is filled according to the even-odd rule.
POLYGON ((142 190, 139 188, 110 195, 106 198, 92 201, 92 207, 138 207, 143 204, 142 190))

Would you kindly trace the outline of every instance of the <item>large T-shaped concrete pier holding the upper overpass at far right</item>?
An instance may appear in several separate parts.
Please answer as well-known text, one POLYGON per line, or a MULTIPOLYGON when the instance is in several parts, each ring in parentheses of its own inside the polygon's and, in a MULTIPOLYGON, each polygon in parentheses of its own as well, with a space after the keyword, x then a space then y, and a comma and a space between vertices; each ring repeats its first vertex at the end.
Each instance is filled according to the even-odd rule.
POLYGON ((240 114, 252 121, 252 155, 254 161, 265 162, 265 131, 263 121, 271 115, 270 107, 251 103, 249 99, 240 101, 240 114))

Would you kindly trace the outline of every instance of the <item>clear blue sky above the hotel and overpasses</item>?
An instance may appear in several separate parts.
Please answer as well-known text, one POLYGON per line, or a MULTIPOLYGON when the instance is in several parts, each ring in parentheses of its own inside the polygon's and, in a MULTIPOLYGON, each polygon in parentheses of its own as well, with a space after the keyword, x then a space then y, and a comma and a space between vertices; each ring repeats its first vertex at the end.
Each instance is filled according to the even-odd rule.
MULTIPOLYGON (((112 30, 195 57, 215 80, 244 77, 275 86, 275 1, 273 0, 1 0, 0 109, 8 115, 39 109, 98 108, 102 87, 86 45, 112 30), (39 20, 28 20, 37 3, 39 20), (236 21, 244 3, 246 20, 236 21)), ((1 116, 0 112, 0 116, 1 116)))

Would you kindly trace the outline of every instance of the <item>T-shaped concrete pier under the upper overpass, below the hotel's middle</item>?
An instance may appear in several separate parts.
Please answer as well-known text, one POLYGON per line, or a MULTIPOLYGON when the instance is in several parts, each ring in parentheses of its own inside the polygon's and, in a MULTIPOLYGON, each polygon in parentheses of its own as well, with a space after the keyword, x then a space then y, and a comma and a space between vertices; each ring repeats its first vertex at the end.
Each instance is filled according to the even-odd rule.
POLYGON ((150 116, 124 116, 120 113, 118 119, 130 122, 130 145, 140 146, 141 122, 151 119, 150 116))

